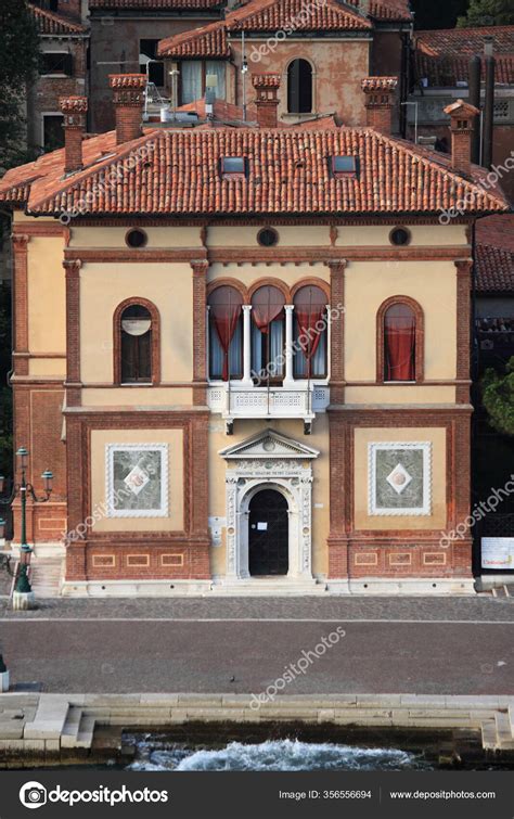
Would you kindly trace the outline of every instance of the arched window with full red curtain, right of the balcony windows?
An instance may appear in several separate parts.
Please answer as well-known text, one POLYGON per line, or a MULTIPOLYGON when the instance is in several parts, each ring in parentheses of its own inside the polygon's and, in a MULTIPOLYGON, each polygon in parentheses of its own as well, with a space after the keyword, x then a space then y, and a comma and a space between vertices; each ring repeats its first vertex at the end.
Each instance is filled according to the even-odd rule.
POLYGON ((415 381, 415 315, 406 304, 384 316, 384 381, 415 381))

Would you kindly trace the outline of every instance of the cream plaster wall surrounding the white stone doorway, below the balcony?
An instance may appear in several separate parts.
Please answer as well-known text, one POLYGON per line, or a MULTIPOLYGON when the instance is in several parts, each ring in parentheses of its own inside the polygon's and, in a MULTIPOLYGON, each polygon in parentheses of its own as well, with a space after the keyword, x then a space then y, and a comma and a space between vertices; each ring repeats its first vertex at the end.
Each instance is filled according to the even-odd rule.
MULTIPOLYGON (((236 421, 234 434, 228 438, 224 434, 224 424, 216 421, 213 417, 209 424, 209 517, 226 517, 226 472, 228 462, 220 456, 219 450, 236 444, 262 432, 266 427, 262 421, 236 421)), ((304 436, 303 422, 273 421, 268 425, 275 432, 287 435, 300 444, 306 444, 320 451, 318 458, 310 461, 312 464, 312 573, 326 575, 329 571, 329 555, 326 551, 326 538, 329 537, 329 491, 330 491, 330 464, 329 464, 329 419, 326 414, 317 417, 312 425, 312 434, 304 436), (322 504, 317 508, 317 504, 322 504)), ((306 461, 307 463, 307 461, 306 461)), ((223 576, 227 568, 226 530, 222 532, 221 546, 211 547, 211 566, 215 575, 223 576)))

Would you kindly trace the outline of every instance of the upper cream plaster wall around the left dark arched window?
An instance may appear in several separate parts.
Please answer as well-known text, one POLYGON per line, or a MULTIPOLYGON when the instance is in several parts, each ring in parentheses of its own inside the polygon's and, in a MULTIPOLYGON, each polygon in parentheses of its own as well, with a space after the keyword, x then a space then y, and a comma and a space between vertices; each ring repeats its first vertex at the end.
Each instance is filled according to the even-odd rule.
POLYGON ((193 286, 187 264, 87 263, 80 270, 80 366, 85 383, 113 382, 113 315, 140 296, 160 315, 160 377, 191 381, 193 286))

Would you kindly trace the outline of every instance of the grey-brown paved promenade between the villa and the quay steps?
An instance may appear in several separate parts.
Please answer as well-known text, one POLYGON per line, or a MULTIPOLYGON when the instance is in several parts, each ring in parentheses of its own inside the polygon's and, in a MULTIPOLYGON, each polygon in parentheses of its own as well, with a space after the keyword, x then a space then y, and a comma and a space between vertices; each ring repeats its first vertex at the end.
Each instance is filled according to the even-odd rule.
POLYGON ((306 652, 287 693, 506 695, 513 624, 492 598, 49 601, 7 613, 0 652, 47 692, 259 693, 306 652))

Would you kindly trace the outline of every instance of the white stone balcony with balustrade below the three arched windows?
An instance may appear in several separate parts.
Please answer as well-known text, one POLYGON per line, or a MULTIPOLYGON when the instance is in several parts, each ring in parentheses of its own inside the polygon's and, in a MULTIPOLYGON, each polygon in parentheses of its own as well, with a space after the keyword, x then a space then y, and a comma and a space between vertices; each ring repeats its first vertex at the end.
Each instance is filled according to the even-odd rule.
POLYGON ((317 412, 324 412, 330 401, 326 385, 307 381, 293 382, 286 386, 240 385, 237 382, 209 386, 208 404, 211 412, 219 412, 230 433, 236 419, 298 418, 304 421, 305 432, 317 412))

